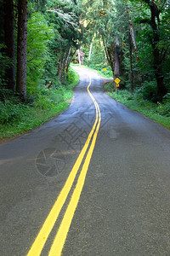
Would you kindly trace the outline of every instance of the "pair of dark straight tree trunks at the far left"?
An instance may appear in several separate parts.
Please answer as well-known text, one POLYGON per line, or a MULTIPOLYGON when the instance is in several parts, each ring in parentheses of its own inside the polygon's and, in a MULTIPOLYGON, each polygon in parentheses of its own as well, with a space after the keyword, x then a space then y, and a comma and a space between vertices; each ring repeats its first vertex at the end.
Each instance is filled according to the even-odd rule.
POLYGON ((27 6, 28 2, 26 0, 3 1, 4 51, 11 61, 9 67, 5 70, 6 88, 16 91, 23 99, 26 98, 27 6), (14 5, 16 7, 15 14, 14 5), (17 16, 17 59, 15 58, 14 15, 17 16), (16 72, 15 59, 17 60, 16 72))

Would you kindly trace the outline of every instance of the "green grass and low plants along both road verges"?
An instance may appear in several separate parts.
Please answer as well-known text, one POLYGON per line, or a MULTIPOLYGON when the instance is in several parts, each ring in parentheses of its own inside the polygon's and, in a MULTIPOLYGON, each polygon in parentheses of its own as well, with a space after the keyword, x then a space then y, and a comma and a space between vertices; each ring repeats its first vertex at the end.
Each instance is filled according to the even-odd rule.
MULTIPOLYGON (((100 74, 104 76, 103 73, 100 74)), ((7 138, 13 138, 31 131, 65 111, 70 106, 73 89, 78 82, 78 74, 71 69, 62 88, 59 88, 59 90, 43 89, 36 100, 29 104, 17 102, 16 99, 12 101, 11 98, 7 100, 6 106, 0 102, 0 140, 3 142, 7 138)), ((156 104, 144 101, 140 94, 132 95, 127 90, 120 90, 117 95, 113 90, 112 82, 105 84, 104 90, 109 96, 117 102, 122 102, 127 108, 138 111, 161 125, 170 128, 170 102, 166 104, 158 102, 156 104)))

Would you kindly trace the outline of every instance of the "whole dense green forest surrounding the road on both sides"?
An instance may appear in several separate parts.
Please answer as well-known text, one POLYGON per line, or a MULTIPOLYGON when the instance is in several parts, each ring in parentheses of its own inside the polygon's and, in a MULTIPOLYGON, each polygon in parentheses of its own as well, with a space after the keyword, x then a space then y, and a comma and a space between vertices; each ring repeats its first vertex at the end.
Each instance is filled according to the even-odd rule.
POLYGON ((168 0, 0 0, 0 13, 1 124, 65 105, 71 63, 119 77, 169 116, 168 0))

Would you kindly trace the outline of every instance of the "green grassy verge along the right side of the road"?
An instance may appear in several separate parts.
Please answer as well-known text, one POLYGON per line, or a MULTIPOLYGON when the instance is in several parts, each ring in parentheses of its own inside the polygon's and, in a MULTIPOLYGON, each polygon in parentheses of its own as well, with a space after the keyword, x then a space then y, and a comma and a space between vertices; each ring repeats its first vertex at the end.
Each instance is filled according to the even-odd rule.
POLYGON ((113 90, 113 84, 104 85, 105 92, 114 98, 117 102, 121 102, 127 108, 144 114, 144 116, 156 121, 157 123, 170 129, 170 102, 164 104, 157 102, 145 101, 139 93, 133 95, 127 90, 113 90))

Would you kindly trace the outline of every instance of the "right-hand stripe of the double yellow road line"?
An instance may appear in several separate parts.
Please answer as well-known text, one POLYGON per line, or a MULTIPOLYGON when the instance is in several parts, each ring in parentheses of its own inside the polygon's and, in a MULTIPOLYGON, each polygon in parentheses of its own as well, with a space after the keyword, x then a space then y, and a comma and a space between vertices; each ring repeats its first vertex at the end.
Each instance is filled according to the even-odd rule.
MULTIPOLYGON (((88 91, 89 91, 89 87, 88 87, 88 91)), ((90 94, 90 96, 92 96, 90 91, 88 93, 90 94)), ((101 122, 101 113, 99 111, 99 105, 95 101, 94 96, 92 96, 92 99, 94 101, 95 106, 97 107, 97 112, 99 113, 99 122, 98 122, 98 125, 96 128, 96 131, 94 132, 94 137, 93 137, 92 143, 90 145, 90 148, 88 150, 86 160, 84 161, 84 164, 82 166, 82 171, 80 173, 80 176, 78 177, 77 186, 74 189, 74 192, 71 196, 71 201, 66 209, 65 216, 59 226, 59 230, 57 232, 57 235, 54 238, 54 242, 53 242, 53 245, 48 253, 48 256, 59 256, 62 253, 63 247, 65 245, 66 236, 70 229, 71 221, 72 221, 72 218, 74 217, 74 213, 77 209, 77 204, 80 199, 80 195, 82 193, 83 185, 85 183, 85 178, 86 178, 86 175, 88 172, 88 166, 89 166, 92 154, 94 152, 94 146, 95 146, 96 138, 97 138, 97 135, 99 132, 99 125, 101 122)))

